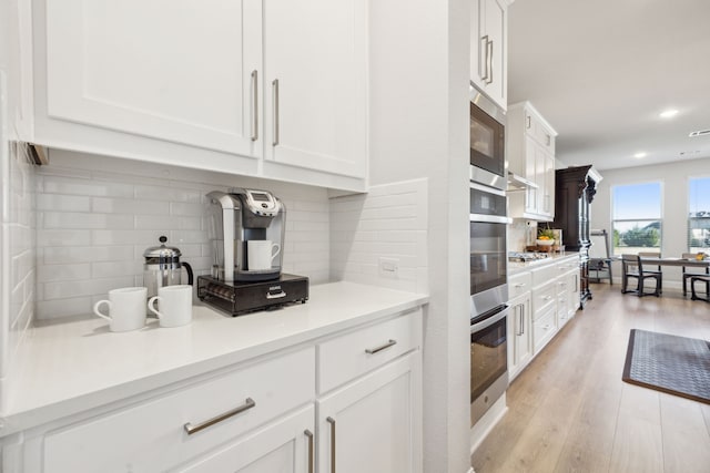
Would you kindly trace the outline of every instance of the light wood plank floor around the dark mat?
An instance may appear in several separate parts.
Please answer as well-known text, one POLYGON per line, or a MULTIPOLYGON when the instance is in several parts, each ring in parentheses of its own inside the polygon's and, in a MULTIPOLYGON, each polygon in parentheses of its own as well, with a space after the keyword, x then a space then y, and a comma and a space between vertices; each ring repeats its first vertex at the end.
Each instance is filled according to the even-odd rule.
POLYGON ((591 290, 508 388, 508 413, 471 457, 476 473, 710 472, 710 404, 621 381, 630 329, 710 340, 710 304, 591 290))

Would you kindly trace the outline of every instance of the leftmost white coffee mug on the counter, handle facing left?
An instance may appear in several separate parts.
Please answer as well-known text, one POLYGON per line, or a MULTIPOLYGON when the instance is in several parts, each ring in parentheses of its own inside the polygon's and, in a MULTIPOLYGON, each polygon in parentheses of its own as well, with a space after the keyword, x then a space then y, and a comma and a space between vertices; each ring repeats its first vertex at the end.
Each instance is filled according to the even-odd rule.
POLYGON ((93 306, 93 312, 109 320, 109 330, 111 331, 136 330, 145 326, 144 304, 146 297, 148 289, 144 287, 111 289, 109 299, 98 301, 93 306), (109 306, 109 315, 99 311, 102 304, 109 306))

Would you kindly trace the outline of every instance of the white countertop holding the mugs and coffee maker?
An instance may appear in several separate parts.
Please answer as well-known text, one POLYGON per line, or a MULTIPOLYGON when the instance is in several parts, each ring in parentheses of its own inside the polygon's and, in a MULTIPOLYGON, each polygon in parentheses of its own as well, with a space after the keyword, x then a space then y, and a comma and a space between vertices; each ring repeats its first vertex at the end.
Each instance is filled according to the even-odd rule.
POLYGON ((195 306, 192 323, 110 332, 82 317, 38 323, 18 352, 0 436, 418 307, 428 296, 352 282, 312 286, 310 299, 231 317, 195 306))

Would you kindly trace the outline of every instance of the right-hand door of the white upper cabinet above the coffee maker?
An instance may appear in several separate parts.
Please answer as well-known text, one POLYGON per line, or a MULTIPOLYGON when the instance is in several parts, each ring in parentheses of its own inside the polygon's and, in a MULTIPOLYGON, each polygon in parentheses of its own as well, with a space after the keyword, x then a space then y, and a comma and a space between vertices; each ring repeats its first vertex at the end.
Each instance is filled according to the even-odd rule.
POLYGON ((364 177, 366 2, 264 2, 264 165, 364 177))

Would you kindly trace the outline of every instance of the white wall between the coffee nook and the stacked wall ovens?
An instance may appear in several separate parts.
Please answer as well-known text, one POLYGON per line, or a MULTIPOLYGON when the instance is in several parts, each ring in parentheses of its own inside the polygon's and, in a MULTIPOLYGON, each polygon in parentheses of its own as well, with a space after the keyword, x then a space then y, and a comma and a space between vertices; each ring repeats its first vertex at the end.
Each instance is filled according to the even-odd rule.
POLYGON ((371 184, 427 178, 424 469, 470 466, 469 2, 371 3, 371 184))

